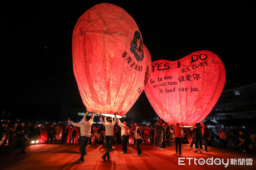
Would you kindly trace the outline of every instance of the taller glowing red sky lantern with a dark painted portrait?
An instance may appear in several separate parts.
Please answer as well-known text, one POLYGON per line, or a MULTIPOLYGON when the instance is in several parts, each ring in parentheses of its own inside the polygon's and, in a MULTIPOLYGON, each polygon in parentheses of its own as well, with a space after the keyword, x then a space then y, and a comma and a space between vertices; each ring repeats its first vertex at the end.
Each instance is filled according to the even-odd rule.
POLYGON ((87 10, 73 31, 73 70, 87 112, 124 116, 150 74, 151 57, 134 19, 102 3, 87 10))

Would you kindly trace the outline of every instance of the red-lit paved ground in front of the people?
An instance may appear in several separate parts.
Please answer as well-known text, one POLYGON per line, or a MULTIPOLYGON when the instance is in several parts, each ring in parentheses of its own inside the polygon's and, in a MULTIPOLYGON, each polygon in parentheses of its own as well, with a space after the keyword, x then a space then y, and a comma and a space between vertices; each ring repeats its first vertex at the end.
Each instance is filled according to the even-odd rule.
POLYGON ((122 146, 113 145, 110 156, 111 161, 103 162, 101 156, 105 153, 102 145, 88 145, 84 163, 78 163, 79 145, 69 144, 36 144, 26 148, 27 153, 21 154, 15 150, 11 155, 0 156, 1 170, 256 170, 256 155, 241 153, 233 150, 221 150, 217 147, 209 147, 210 152, 203 154, 193 153, 188 144, 183 144, 182 156, 175 153, 175 147, 167 147, 157 150, 155 145, 140 145, 143 156, 136 157, 135 145, 128 145, 128 153, 121 154, 122 146), (195 165, 194 161, 189 165, 188 159, 178 165, 178 158, 207 158, 224 159, 253 159, 253 165, 195 165))

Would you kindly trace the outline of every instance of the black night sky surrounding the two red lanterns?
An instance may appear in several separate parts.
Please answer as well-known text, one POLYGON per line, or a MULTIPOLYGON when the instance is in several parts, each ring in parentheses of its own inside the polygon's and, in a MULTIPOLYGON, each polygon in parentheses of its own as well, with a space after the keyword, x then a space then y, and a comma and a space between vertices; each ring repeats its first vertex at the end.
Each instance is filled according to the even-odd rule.
MULTIPOLYGON (((2 6, 0 16, 1 110, 45 104, 84 107, 73 74, 73 28, 85 11, 102 2, 117 5, 134 18, 152 62, 177 60, 195 51, 208 50, 224 63, 224 89, 256 82, 254 4, 10 2, 2 6)), ((133 108, 145 105, 150 104, 143 92, 133 108)))

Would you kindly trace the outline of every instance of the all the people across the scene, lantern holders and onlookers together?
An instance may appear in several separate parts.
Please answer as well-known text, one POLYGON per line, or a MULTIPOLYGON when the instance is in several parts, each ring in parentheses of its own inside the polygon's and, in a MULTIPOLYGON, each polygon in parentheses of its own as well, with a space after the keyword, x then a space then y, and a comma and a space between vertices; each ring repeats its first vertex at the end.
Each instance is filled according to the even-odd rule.
MULTIPOLYGON (((136 122, 130 126, 119 119, 102 119, 100 115, 99 124, 93 124, 93 114, 91 117, 84 116, 80 123, 68 120, 68 123, 31 123, 12 122, 10 120, 2 122, 0 127, 0 153, 11 154, 12 151, 20 147, 20 153, 26 153, 26 146, 29 141, 42 139, 42 132, 46 132, 47 138, 43 139, 47 144, 80 144, 81 157, 79 162, 84 161, 87 144, 105 144, 106 152, 102 156, 104 161, 110 160, 109 152, 112 144, 122 144, 122 152, 127 153, 127 144, 135 144, 136 156, 142 156, 140 144, 156 145, 157 150, 166 147, 175 147, 176 153, 181 155, 181 145, 195 144, 195 153, 208 152, 214 139, 219 139, 219 147, 239 150, 241 152, 253 153, 256 150, 256 130, 245 127, 207 127, 204 123, 197 123, 193 127, 182 127, 169 125, 163 120, 158 120, 154 125, 140 125, 136 122), (4 146, 5 149, 4 149, 4 146)), ((216 143, 216 142, 215 142, 216 143)))

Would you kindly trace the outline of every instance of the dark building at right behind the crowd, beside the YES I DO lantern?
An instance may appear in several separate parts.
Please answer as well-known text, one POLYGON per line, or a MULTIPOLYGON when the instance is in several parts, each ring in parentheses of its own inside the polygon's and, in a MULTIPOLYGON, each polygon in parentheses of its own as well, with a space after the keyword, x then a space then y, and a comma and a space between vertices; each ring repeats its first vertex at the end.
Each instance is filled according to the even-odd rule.
POLYGON ((223 125, 255 125, 256 83, 223 91, 207 119, 223 125))

